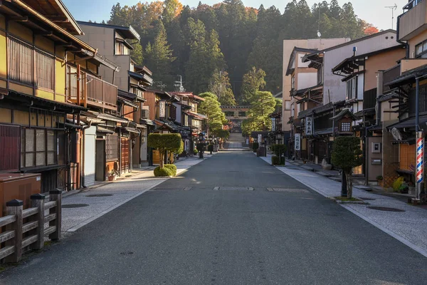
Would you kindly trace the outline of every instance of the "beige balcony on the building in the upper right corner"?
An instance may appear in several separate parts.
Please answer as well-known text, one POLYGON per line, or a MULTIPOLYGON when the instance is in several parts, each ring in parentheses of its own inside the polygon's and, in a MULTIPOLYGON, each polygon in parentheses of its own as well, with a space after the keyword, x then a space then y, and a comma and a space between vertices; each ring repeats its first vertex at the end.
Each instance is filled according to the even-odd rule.
POLYGON ((427 30, 427 1, 410 1, 404 9, 405 14, 399 16, 399 40, 408 41, 421 32, 427 30))

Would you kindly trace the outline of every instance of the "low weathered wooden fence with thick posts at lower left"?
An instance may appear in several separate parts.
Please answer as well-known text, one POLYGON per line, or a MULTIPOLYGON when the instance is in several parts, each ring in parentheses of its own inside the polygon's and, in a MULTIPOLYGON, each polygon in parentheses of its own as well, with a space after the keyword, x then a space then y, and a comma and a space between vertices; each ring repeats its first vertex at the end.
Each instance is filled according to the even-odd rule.
POLYGON ((19 199, 6 202, 6 216, 0 218, 0 228, 6 227, 0 234, 0 243, 5 244, 0 249, 0 261, 18 262, 24 250, 42 249, 46 235, 51 240, 60 239, 62 190, 49 192, 49 197, 45 202, 46 195, 31 195, 32 207, 28 209, 23 209, 19 199))

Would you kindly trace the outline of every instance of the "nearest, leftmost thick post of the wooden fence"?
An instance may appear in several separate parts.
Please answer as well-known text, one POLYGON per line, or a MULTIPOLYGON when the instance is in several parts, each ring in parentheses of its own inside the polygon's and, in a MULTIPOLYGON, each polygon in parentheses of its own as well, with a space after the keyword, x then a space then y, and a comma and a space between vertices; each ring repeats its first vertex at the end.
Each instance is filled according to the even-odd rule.
POLYGON ((7 231, 15 231, 14 239, 6 241, 7 246, 14 246, 14 253, 5 258, 6 262, 18 262, 22 257, 22 208, 23 202, 19 199, 13 199, 6 202, 6 214, 15 216, 16 221, 6 226, 7 231))

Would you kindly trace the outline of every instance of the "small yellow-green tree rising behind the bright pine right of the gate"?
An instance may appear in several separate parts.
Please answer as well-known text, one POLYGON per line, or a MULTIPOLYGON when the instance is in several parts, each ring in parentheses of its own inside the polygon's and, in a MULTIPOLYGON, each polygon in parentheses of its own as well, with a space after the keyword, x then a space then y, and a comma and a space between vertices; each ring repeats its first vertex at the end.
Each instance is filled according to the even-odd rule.
POLYGON ((241 89, 241 105, 248 105, 253 96, 255 96, 261 88, 265 87, 265 71, 261 68, 258 70, 253 66, 248 73, 243 75, 243 85, 241 89))

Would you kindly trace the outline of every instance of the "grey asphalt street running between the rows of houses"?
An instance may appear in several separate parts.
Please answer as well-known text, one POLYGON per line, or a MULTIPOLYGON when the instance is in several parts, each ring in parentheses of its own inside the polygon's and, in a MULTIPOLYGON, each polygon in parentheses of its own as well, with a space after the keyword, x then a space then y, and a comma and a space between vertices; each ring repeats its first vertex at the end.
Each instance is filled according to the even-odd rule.
POLYGON ((233 151, 96 219, 0 284, 426 284, 426 264, 252 152, 233 151))

